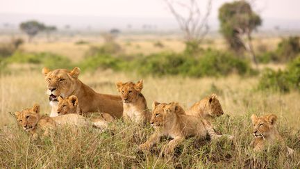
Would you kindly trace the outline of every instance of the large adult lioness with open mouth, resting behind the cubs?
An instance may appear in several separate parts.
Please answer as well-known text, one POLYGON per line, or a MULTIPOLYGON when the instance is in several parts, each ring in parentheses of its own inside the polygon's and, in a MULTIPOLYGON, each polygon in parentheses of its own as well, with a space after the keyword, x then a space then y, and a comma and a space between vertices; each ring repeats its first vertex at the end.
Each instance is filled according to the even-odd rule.
POLYGON ((56 112, 59 96, 76 95, 83 114, 100 111, 121 118, 123 113, 121 97, 95 92, 78 79, 80 72, 78 67, 74 67, 71 71, 65 69, 51 71, 47 67, 43 68, 42 74, 48 82, 47 94, 52 107, 50 116, 58 116, 56 112))

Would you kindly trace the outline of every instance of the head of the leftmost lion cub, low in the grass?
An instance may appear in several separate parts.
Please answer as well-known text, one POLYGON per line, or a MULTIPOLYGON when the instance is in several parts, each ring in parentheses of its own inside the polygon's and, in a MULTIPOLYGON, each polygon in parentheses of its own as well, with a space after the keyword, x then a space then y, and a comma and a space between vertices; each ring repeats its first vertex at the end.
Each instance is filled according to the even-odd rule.
POLYGON ((15 112, 18 124, 25 130, 35 129, 40 120, 40 106, 35 104, 33 108, 25 108, 23 111, 15 112))

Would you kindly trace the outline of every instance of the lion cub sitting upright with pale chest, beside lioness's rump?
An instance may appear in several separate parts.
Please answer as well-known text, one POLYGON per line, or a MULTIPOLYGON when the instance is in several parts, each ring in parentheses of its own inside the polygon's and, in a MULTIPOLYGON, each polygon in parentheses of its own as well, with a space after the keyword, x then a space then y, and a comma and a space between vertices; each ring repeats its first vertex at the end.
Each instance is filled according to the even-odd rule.
POLYGON ((151 118, 151 113, 147 107, 146 99, 142 95, 143 81, 118 82, 117 90, 121 93, 123 100, 123 117, 134 122, 147 122, 151 118))

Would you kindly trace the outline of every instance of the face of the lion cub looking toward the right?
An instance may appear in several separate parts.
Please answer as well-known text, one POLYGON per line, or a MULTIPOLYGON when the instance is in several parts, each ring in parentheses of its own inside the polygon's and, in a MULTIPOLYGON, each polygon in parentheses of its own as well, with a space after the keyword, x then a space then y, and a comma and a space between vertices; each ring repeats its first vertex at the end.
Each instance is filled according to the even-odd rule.
POLYGON ((215 94, 208 97, 208 114, 213 118, 224 114, 223 108, 217 99, 217 95, 215 94))

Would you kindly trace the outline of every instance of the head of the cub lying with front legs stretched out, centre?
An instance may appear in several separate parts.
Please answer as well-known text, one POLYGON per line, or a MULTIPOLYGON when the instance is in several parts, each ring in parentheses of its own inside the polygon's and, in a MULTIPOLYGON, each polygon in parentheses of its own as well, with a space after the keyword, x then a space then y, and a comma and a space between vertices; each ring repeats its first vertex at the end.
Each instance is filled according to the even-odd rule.
POLYGON ((176 102, 169 104, 153 102, 152 109, 150 123, 154 128, 163 127, 168 122, 174 121, 176 114, 185 114, 183 108, 176 102))

